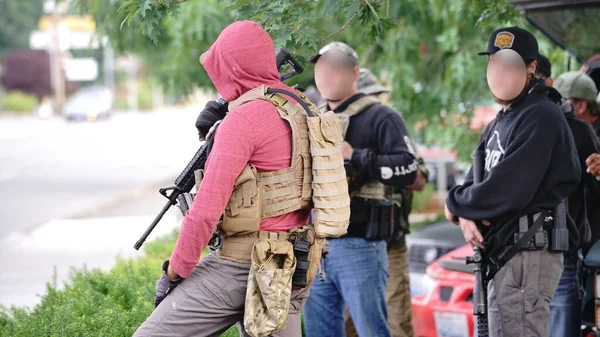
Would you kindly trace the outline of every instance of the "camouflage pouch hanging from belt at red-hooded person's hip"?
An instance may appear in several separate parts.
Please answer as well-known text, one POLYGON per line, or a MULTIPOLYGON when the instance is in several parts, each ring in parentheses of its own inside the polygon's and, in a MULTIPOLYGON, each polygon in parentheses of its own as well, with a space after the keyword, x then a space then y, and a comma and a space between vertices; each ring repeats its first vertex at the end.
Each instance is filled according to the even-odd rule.
POLYGON ((295 268, 294 248, 287 240, 259 239, 254 244, 244 308, 244 329, 250 336, 285 329, 295 268))

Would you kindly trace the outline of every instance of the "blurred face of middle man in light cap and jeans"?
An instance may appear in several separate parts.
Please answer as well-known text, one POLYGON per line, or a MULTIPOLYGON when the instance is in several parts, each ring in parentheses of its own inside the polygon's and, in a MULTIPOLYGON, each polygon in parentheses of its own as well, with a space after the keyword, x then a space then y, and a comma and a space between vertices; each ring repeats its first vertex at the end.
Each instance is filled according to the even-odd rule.
POLYGON ((356 93, 359 67, 347 60, 321 56, 315 64, 317 89, 328 102, 340 102, 356 93))

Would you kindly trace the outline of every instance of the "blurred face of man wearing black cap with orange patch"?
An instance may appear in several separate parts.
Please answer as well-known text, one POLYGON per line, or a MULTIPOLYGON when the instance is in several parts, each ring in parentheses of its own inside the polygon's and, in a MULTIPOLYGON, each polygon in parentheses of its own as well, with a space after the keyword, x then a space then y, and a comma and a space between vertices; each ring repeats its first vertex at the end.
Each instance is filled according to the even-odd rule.
POLYGON ((487 82, 496 103, 509 105, 527 88, 537 61, 525 65, 521 56, 512 49, 502 49, 489 56, 487 82))

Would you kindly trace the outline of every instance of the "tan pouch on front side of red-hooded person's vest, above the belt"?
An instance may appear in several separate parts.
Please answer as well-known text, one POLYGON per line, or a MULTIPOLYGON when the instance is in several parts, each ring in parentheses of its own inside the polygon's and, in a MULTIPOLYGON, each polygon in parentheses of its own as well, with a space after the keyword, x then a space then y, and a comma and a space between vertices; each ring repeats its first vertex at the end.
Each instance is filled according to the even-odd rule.
POLYGON ((256 182, 256 168, 246 165, 235 180, 220 230, 225 236, 254 233, 259 230, 260 219, 261 190, 256 182))

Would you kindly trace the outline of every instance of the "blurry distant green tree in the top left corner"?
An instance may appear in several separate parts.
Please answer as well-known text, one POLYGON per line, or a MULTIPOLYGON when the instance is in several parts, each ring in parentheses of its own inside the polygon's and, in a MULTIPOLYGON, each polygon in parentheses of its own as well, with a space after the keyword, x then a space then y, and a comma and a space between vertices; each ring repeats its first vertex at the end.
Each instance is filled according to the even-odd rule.
POLYGON ((0 0, 0 59, 9 49, 29 48, 43 9, 42 0, 0 0))

